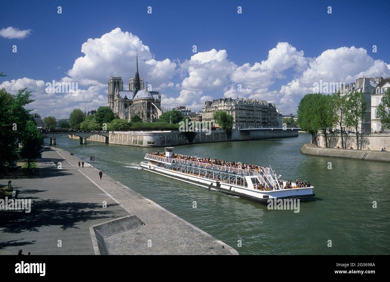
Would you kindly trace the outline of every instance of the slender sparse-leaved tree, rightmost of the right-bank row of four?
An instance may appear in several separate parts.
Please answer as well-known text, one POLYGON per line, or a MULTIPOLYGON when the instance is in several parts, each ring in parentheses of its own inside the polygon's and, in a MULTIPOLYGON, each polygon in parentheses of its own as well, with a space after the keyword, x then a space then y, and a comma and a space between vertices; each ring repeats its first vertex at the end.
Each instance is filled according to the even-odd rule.
POLYGON ((367 102, 364 93, 352 91, 347 97, 346 103, 346 126, 355 128, 356 132, 356 149, 359 150, 359 123, 363 121, 367 102))

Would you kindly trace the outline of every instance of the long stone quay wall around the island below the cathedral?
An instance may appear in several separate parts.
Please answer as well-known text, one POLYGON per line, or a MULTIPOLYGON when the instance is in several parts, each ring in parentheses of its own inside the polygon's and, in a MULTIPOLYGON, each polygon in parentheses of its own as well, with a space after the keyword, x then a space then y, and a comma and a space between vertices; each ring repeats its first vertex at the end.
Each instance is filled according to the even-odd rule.
MULTIPOLYGON (((111 131, 108 138, 109 144, 128 145, 138 147, 164 147, 174 145, 262 140, 272 138, 297 137, 298 130, 282 130, 281 128, 267 128, 256 131, 232 130, 232 137, 229 139, 224 130, 213 130, 210 135, 205 132, 197 132, 193 142, 188 142, 185 134, 179 131, 111 131)), ((80 139, 76 135, 69 135, 71 139, 80 139)), ((87 142, 106 142, 106 138, 101 135, 92 135, 87 138, 87 142)))

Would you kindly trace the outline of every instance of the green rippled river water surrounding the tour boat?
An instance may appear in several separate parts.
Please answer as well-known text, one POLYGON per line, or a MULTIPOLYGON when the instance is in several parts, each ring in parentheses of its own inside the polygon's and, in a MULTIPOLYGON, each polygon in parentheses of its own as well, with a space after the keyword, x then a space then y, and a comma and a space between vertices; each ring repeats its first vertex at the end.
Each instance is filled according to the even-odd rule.
POLYGON ((154 151, 151 148, 80 145, 67 137, 57 138, 57 147, 85 160, 96 156, 96 168, 240 254, 390 254, 390 164, 305 156, 299 152, 304 142, 310 143, 310 135, 174 149, 179 154, 271 165, 282 179, 309 180, 316 197, 301 201, 299 213, 268 210, 265 205, 140 170, 139 163, 146 152, 154 151))

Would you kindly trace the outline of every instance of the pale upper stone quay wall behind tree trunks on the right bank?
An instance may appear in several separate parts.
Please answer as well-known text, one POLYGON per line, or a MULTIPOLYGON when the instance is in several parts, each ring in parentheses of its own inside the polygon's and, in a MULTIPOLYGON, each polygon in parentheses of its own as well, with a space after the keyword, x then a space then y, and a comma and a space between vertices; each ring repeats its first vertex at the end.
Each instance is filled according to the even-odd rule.
MULTIPOLYGON (((353 149, 356 149, 355 133, 343 134, 343 140, 344 144, 347 144, 347 149, 351 146, 353 149)), ((326 147, 323 135, 319 135, 319 145, 326 147)), ((337 146, 341 148, 341 134, 335 133, 328 135, 328 147, 337 148, 337 146)), ((359 135, 359 149, 367 150, 370 148, 371 151, 381 151, 383 147, 390 150, 390 133, 364 133, 359 135)))

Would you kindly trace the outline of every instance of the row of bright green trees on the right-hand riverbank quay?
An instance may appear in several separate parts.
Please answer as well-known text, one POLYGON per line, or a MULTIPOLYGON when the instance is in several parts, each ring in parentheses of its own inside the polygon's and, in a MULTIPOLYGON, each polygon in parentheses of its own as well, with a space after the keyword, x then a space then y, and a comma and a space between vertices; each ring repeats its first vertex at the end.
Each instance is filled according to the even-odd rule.
MULTIPOLYGON (((306 94, 298 104, 298 124, 302 130, 312 135, 313 144, 317 144, 318 132, 325 138, 325 146, 328 147, 329 129, 335 124, 352 127, 356 132, 356 147, 359 149, 359 123, 364 119, 367 102, 364 93, 353 91, 349 95, 341 96, 340 93, 306 94)), ((341 144, 345 148, 343 132, 341 131, 341 144)))

